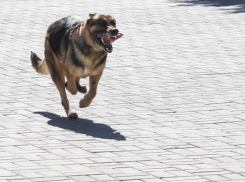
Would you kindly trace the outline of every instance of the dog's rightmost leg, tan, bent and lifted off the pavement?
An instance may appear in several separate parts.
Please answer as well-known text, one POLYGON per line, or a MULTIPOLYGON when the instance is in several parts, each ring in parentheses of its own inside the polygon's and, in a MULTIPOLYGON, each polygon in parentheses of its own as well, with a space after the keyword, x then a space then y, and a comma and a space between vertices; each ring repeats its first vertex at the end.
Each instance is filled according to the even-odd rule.
POLYGON ((96 76, 89 77, 89 92, 84 96, 84 98, 80 101, 80 108, 88 107, 92 102, 94 97, 96 96, 97 86, 100 81, 102 73, 96 76))

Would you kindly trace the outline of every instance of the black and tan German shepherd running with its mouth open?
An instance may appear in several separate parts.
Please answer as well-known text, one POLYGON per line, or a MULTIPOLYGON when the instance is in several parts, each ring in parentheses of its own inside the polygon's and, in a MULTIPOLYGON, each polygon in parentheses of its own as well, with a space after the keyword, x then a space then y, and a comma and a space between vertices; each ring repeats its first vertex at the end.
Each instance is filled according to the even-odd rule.
POLYGON ((68 16, 48 27, 43 60, 31 52, 33 68, 40 74, 51 75, 69 119, 77 119, 78 115, 71 109, 66 89, 73 95, 87 93, 79 80, 89 77, 89 91, 79 103, 80 108, 89 106, 96 96, 107 53, 113 51, 112 43, 122 36, 110 15, 89 14, 86 21, 68 16))

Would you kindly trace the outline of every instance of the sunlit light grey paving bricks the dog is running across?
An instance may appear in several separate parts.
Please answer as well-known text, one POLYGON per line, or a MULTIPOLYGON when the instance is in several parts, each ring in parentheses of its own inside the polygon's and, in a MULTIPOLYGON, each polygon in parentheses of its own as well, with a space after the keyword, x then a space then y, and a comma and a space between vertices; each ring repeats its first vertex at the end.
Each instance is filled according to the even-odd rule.
POLYGON ((2 0, 0 181, 244 182, 244 1, 214 2, 2 0), (95 12, 124 37, 92 105, 68 95, 69 121, 30 51, 43 57, 53 21, 95 12))

